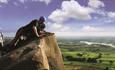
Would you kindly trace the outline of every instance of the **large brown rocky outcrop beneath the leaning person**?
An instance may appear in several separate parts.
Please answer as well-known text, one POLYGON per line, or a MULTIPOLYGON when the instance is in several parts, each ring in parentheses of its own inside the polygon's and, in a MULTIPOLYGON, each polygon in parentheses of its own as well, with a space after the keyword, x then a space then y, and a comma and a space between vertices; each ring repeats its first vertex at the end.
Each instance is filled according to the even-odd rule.
POLYGON ((0 70, 64 70, 55 35, 30 42, 1 57, 0 70))

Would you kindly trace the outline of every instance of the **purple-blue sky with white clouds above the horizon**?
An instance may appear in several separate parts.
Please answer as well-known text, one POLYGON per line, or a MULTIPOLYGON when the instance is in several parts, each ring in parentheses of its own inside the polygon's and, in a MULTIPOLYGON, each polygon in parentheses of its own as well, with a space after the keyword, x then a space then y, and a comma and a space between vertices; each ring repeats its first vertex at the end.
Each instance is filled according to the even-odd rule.
POLYGON ((4 36, 40 16, 56 36, 115 36, 115 0, 0 0, 4 36))

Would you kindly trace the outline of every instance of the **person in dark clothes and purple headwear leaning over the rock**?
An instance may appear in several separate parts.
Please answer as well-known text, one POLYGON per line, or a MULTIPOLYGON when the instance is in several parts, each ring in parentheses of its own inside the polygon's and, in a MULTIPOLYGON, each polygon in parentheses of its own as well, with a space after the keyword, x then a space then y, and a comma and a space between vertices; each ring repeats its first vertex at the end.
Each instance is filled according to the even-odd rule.
POLYGON ((33 38, 42 38, 43 36, 45 36, 44 22, 45 22, 45 18, 41 16, 39 20, 34 19, 26 26, 19 28, 16 33, 16 36, 11 41, 11 45, 15 47, 20 40, 28 41, 33 38))

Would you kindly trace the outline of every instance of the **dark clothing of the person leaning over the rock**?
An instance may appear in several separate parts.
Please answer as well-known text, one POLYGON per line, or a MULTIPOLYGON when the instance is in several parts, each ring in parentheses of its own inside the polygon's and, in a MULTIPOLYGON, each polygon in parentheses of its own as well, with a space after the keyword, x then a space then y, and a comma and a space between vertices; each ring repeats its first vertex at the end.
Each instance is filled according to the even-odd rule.
POLYGON ((21 27, 18 29, 15 38, 12 40, 11 44, 16 46, 21 40, 28 41, 32 38, 36 38, 37 35, 33 30, 33 27, 37 28, 38 34, 40 35, 40 31, 44 30, 45 24, 40 23, 37 19, 31 21, 26 26, 21 27))

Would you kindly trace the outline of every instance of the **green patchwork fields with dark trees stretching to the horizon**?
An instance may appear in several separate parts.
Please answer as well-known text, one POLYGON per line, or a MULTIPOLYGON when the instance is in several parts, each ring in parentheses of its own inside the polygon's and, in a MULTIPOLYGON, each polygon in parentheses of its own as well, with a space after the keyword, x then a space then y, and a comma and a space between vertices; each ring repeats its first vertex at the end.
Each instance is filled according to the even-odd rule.
POLYGON ((102 45, 80 43, 80 41, 112 43, 113 38, 99 39, 58 39, 65 70, 115 70, 115 48, 102 45))

